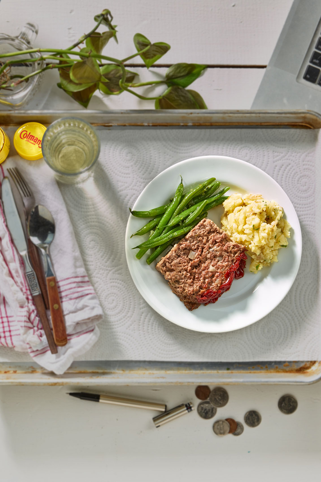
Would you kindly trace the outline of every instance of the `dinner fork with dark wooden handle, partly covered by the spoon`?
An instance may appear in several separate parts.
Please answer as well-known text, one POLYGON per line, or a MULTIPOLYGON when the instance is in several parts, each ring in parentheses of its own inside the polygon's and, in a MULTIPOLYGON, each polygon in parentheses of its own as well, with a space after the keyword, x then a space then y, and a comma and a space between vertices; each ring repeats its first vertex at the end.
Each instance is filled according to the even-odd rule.
MULTIPOLYGON (((8 174, 10 175, 11 179, 13 180, 13 183, 15 187, 17 188, 21 199, 23 201, 24 205, 24 211, 25 211, 25 218, 26 218, 26 224, 27 224, 27 219, 29 214, 31 213, 31 210, 35 207, 36 201, 33 195, 33 192, 31 191, 30 187, 28 186, 25 178, 23 175, 20 173, 19 169, 17 167, 13 168, 8 168, 7 169, 8 174)), ((31 264, 36 271, 38 282, 40 285, 40 290, 43 296, 43 301, 45 304, 46 309, 49 309, 49 298, 48 298, 48 292, 47 292, 47 285, 44 277, 44 272, 40 260, 40 253, 38 248, 29 240, 29 237, 27 235, 27 241, 28 241, 28 253, 30 256, 30 261, 31 264)))

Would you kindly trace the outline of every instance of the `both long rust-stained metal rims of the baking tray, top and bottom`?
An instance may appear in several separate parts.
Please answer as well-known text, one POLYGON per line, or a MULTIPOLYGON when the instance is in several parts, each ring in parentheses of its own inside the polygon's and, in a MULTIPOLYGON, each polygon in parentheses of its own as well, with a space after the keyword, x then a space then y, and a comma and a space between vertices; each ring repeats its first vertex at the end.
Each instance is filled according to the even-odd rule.
MULTIPOLYGON (((321 117, 308 111, 0 111, 0 125, 25 121, 50 124, 77 116, 100 129, 295 128, 320 129, 321 117)), ((321 362, 75 362, 64 375, 30 363, 0 363, 2 384, 169 384, 169 383, 312 383, 321 378, 321 362)))

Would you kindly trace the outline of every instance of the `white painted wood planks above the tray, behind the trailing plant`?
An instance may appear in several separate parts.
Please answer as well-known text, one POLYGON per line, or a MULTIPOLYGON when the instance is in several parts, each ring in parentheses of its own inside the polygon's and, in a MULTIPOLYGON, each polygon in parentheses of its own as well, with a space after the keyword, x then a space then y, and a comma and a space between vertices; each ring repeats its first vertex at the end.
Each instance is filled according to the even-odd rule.
MULTIPOLYGON (((35 46, 64 48, 94 26, 96 13, 108 8, 118 25, 119 44, 110 40, 106 55, 121 59, 135 53, 133 37, 140 32, 151 41, 171 45, 158 62, 161 64, 262 66, 268 63, 291 4, 292 0, 14 0, 13 8, 12 0, 1 0, 0 32, 18 35, 23 25, 32 21, 39 25, 35 46)), ((141 64, 142 60, 135 57, 131 62, 141 64)), ((141 81, 160 79, 166 72, 165 68, 134 70, 141 81)), ((264 69, 259 68, 208 68, 190 88, 202 95, 210 109, 246 109, 251 107, 263 74, 264 69)), ((78 108, 56 87, 57 81, 57 72, 46 72, 40 93, 27 108, 78 108)), ((164 90, 141 89, 148 96, 164 90)), ((90 108, 154 108, 154 102, 127 93, 95 93, 90 108)))

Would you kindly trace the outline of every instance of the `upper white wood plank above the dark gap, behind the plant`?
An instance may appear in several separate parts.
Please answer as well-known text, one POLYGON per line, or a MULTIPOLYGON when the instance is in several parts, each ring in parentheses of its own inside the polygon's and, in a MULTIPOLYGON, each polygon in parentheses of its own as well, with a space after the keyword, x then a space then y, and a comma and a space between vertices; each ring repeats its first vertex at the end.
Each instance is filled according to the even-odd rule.
POLYGON ((139 32, 171 45, 161 63, 262 65, 291 5, 292 0, 1 0, 0 32, 17 35, 26 22, 36 22, 37 46, 63 48, 90 31, 94 15, 108 8, 119 45, 109 42, 106 55, 134 54, 139 32))

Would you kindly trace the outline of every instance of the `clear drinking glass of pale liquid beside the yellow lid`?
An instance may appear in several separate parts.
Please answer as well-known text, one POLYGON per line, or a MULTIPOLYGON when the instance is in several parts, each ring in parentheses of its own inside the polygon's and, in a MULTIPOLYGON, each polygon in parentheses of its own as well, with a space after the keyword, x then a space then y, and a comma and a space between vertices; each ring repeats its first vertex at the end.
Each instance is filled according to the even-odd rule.
POLYGON ((77 117, 55 120, 43 134, 41 146, 56 178, 68 184, 87 179, 100 152, 93 126, 77 117))

